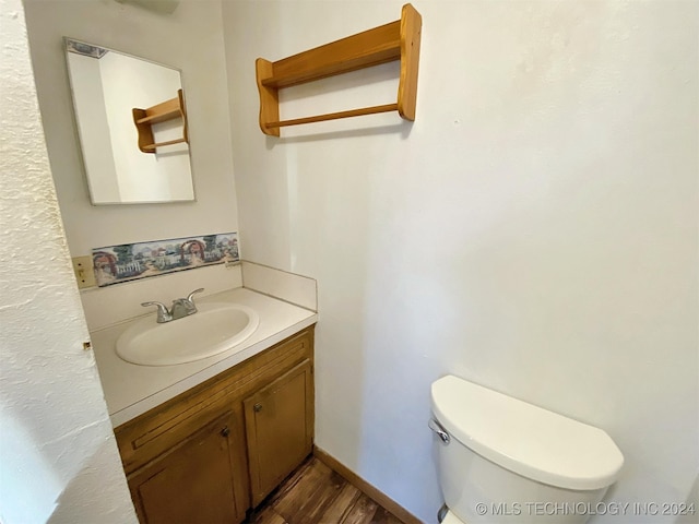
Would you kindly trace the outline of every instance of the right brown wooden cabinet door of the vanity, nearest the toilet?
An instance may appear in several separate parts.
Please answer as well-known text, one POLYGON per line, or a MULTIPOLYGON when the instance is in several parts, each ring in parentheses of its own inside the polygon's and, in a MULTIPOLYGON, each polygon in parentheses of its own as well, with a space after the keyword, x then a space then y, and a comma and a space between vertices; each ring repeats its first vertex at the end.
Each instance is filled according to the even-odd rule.
POLYGON ((244 401, 250 491, 258 505, 311 452, 313 379, 304 360, 244 401))

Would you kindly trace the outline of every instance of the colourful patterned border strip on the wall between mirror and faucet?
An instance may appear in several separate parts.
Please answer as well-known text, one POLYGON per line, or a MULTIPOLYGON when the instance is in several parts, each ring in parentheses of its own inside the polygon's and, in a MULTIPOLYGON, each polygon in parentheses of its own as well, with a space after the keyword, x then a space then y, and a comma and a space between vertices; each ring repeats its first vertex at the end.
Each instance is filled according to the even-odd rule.
POLYGON ((237 233, 125 243, 92 250, 99 287, 239 260, 237 233))

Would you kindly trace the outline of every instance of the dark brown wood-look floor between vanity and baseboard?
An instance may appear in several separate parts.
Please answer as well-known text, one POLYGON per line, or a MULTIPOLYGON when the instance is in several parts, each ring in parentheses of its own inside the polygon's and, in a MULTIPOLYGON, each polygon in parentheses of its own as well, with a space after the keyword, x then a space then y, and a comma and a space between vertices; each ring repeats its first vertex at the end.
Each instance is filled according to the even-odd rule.
POLYGON ((403 524, 310 456, 254 511, 250 524, 403 524))

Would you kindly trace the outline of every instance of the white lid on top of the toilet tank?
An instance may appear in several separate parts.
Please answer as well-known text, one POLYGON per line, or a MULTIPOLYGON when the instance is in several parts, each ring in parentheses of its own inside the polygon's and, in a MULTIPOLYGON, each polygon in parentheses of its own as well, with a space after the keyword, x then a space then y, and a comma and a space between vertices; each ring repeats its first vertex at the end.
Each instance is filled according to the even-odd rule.
POLYGON ((600 489, 616 480, 624 464, 602 429, 453 376, 433 383, 431 405, 435 417, 462 444, 540 483, 600 489))

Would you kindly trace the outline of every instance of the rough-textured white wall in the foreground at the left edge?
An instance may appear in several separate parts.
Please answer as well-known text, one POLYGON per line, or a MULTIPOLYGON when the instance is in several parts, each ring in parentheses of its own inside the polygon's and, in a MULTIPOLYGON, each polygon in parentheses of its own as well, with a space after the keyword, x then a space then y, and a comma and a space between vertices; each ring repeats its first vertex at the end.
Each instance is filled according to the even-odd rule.
POLYGON ((0 521, 135 523, 44 142, 20 0, 0 0, 0 521), (48 254, 50 253, 50 254, 48 254))

